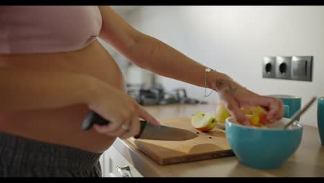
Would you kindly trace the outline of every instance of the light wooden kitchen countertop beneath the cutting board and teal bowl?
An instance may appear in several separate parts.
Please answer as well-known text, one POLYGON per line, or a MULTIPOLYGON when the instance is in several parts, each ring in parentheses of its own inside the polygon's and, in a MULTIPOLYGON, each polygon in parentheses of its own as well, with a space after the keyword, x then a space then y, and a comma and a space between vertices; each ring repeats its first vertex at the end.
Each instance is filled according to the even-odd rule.
MULTIPOLYGON (((165 105, 145 109, 156 118, 188 117, 201 110, 213 111, 216 104, 165 105)), ((116 139, 114 148, 144 177, 324 177, 324 146, 318 130, 304 125, 303 139, 296 153, 276 169, 255 169, 241 164, 236 157, 222 157, 197 162, 161 166, 153 162, 127 139, 116 139)))

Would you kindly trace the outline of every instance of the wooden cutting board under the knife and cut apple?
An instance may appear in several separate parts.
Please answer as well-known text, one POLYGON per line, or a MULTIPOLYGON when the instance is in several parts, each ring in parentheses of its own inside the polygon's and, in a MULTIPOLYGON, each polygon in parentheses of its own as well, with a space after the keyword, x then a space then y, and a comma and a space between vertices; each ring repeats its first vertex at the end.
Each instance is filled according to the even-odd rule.
POLYGON ((163 125, 195 132, 198 137, 186 141, 129 139, 157 164, 177 164, 234 155, 224 130, 214 128, 210 132, 200 132, 192 127, 189 118, 159 119, 159 121, 163 125))

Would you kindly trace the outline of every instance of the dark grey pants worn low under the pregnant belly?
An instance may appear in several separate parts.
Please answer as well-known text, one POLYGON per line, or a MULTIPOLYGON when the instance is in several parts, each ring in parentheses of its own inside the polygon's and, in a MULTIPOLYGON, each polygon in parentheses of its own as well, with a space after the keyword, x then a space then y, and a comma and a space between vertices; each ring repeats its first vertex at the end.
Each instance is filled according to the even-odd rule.
POLYGON ((100 155, 0 133, 0 177, 101 177, 100 155))

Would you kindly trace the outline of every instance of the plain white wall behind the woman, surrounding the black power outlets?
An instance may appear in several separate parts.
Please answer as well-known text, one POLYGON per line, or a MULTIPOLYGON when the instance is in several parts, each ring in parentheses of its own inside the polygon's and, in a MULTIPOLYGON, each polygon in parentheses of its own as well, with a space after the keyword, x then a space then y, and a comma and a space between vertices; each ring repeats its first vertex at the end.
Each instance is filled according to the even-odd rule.
MULTIPOLYGON (((324 96, 323 6, 143 6, 127 17, 132 26, 259 94, 324 96), (263 55, 313 55, 313 81, 262 78, 263 55)), ((161 78, 166 89, 204 89, 161 78)), ((210 98, 217 99, 217 94, 210 98)), ((316 105, 302 123, 316 125, 316 105)))

